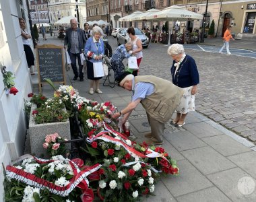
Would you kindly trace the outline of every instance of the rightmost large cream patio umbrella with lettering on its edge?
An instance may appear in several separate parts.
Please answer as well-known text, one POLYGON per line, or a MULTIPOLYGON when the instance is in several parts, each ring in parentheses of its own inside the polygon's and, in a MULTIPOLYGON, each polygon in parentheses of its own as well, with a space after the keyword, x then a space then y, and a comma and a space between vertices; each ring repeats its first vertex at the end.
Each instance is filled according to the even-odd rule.
MULTIPOLYGON (((146 20, 157 20, 157 21, 185 21, 185 20, 201 20, 203 19, 203 15, 195 12, 188 11, 179 7, 177 5, 172 5, 170 7, 166 7, 160 12, 152 13, 151 15, 146 16, 146 20)), ((169 30, 169 38, 168 45, 170 45, 170 33, 172 33, 172 28, 169 30)))

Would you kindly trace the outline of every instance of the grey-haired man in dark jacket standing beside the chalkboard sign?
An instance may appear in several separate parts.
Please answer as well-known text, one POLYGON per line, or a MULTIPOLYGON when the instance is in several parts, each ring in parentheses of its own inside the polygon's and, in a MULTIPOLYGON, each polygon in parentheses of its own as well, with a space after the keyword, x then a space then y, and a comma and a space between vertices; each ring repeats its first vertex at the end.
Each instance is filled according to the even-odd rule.
POLYGON ((64 48, 67 49, 71 60, 71 67, 75 75, 73 80, 77 80, 77 77, 79 76, 80 81, 84 81, 83 65, 81 63, 80 54, 83 53, 86 38, 84 36, 84 30, 77 28, 77 20, 75 18, 70 20, 70 25, 71 28, 66 30, 64 48), (77 71, 76 60, 79 65, 79 73, 77 71))

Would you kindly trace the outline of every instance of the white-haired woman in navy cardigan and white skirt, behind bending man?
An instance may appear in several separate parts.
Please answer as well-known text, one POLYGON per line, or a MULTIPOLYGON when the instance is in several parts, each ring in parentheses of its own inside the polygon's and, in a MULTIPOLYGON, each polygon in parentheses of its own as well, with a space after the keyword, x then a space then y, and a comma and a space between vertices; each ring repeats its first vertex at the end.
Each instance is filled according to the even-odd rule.
POLYGON ((195 94, 199 83, 199 73, 195 60, 185 54, 183 45, 172 44, 167 53, 173 59, 172 67, 170 68, 172 83, 185 90, 181 103, 176 109, 177 116, 172 121, 172 124, 182 127, 185 124, 187 113, 195 111, 195 94))

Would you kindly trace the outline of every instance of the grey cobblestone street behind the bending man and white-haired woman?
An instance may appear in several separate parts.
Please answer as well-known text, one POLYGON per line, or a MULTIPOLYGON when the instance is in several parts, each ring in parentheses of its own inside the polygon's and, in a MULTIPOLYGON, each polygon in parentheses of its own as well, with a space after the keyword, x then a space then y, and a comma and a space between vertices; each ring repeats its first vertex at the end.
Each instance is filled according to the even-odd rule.
MULTIPOLYGON (((117 39, 108 38, 115 50, 117 39)), ((167 48, 164 44, 150 43, 143 49, 139 74, 170 80, 172 59, 167 55, 167 48)), ((256 60, 198 50, 185 51, 195 59, 199 69, 199 93, 195 101, 197 112, 255 142, 256 60)))

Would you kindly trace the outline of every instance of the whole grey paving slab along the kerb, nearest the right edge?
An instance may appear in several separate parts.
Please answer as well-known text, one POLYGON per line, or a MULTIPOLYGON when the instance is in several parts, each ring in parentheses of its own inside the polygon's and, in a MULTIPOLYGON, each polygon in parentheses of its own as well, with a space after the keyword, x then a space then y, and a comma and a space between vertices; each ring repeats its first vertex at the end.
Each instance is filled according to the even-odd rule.
POLYGON ((223 156, 231 156, 251 151, 251 149, 241 143, 238 143, 238 141, 232 139, 232 137, 229 137, 228 135, 205 137, 202 140, 213 147, 216 151, 220 152, 223 156))

